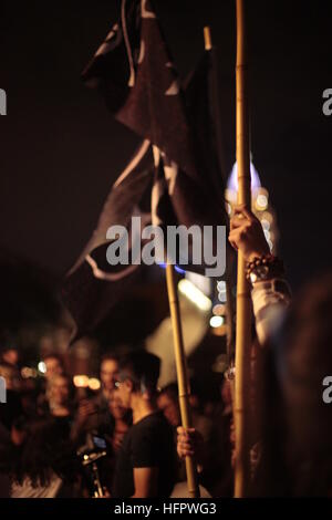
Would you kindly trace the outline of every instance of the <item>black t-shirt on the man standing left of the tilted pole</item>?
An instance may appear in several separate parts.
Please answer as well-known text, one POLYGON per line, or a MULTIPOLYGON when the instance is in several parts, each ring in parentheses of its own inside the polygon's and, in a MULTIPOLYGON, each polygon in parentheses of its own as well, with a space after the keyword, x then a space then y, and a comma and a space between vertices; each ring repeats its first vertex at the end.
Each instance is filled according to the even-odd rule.
POLYGON ((115 468, 114 497, 134 495, 134 468, 158 468, 157 496, 169 497, 176 479, 176 450, 173 429, 162 412, 144 417, 125 435, 115 468))

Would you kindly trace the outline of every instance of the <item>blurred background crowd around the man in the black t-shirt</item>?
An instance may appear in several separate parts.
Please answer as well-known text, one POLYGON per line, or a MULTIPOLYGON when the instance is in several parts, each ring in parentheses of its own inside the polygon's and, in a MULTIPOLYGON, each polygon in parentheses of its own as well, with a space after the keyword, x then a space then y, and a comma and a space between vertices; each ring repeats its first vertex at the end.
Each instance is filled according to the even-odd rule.
MULTIPOLYGON (((152 356, 139 350, 138 354, 152 356)), ((0 407, 1 497, 89 498, 101 489, 103 496, 115 496, 116 458, 133 425, 133 410, 117 395, 121 362, 114 353, 102 357, 101 388, 92 392, 74 386, 56 353, 43 358, 44 375, 35 379, 21 377, 15 349, 2 351, 0 375, 7 382, 7 403, 0 407)), ((193 392, 190 405, 193 424, 206 446, 198 468, 201 486, 208 493, 230 497, 229 392, 225 379, 219 403, 205 402, 193 392)), ((181 423, 177 384, 156 388, 152 403, 172 431, 175 471, 169 491, 184 492, 184 487, 176 488, 186 480, 185 465, 176 455, 176 429, 181 423)))

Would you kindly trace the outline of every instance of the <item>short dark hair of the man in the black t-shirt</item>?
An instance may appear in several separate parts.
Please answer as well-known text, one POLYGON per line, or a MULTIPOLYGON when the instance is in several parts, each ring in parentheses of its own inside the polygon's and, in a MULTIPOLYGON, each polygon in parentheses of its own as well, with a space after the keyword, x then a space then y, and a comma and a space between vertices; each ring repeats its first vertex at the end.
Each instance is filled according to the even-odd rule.
POLYGON ((128 373, 134 383, 155 391, 160 374, 160 358, 144 350, 134 351, 120 360, 120 372, 128 373))

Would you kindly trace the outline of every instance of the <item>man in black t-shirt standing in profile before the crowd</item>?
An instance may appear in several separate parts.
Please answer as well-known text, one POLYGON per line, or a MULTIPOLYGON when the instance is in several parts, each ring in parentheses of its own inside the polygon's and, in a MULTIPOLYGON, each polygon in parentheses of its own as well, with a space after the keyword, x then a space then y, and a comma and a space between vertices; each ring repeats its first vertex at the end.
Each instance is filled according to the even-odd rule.
POLYGON ((137 351, 120 363, 116 394, 133 412, 133 426, 117 456, 112 496, 169 497, 176 480, 176 449, 170 425, 155 397, 160 360, 137 351))

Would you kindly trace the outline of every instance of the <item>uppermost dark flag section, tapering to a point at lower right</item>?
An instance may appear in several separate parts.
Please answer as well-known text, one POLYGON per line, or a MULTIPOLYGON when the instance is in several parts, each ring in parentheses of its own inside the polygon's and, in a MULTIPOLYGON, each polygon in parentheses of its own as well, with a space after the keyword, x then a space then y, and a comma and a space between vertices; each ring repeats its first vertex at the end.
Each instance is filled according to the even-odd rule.
POLYGON ((116 23, 83 72, 115 118, 196 173, 190 129, 173 59, 148 0, 122 0, 116 23))

